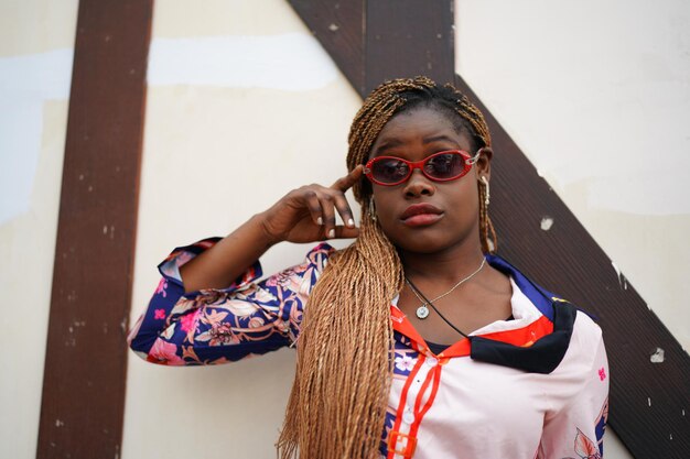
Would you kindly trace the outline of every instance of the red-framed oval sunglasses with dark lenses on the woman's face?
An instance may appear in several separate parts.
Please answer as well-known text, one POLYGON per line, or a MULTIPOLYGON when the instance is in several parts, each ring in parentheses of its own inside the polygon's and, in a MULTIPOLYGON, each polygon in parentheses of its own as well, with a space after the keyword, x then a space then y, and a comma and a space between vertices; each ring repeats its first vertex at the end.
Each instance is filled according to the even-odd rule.
POLYGON ((417 162, 396 156, 378 156, 369 160, 364 166, 364 174, 377 185, 399 185, 410 178, 418 168, 424 176, 434 182, 455 181, 470 172, 472 165, 479 159, 477 151, 474 156, 462 150, 451 150, 434 153, 417 162))

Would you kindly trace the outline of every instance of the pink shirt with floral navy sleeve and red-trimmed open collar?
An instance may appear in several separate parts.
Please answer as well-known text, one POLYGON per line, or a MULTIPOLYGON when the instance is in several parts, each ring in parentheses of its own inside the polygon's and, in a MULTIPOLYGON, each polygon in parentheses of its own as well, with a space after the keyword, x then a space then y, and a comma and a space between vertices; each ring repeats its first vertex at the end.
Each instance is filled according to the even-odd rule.
MULTIPOLYGON (((217 239, 175 249, 129 335, 143 359, 217 364, 291 346, 333 248, 263 281, 257 262, 233 285, 185 294, 179 269, 217 239)), ((395 365, 381 458, 554 458, 603 455, 608 365, 601 329, 505 260, 511 320, 492 323, 434 354, 392 298, 395 365)))

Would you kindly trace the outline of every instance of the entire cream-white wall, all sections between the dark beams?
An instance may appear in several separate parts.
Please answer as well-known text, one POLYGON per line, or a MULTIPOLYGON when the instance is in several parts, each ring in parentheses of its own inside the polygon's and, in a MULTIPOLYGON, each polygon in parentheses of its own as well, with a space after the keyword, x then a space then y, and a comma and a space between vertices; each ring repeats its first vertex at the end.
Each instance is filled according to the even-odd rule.
MULTIPOLYGON (((457 70, 688 349, 688 3, 456 7, 457 70)), ((76 12, 0 3, 0 457, 35 453, 76 12)), ((282 0, 158 0, 152 45, 132 318, 172 247, 334 181, 359 105, 282 0)), ((278 247, 266 271, 303 252, 278 247)), ((290 351, 206 369, 131 356, 122 456, 274 457, 292 367, 290 351)))

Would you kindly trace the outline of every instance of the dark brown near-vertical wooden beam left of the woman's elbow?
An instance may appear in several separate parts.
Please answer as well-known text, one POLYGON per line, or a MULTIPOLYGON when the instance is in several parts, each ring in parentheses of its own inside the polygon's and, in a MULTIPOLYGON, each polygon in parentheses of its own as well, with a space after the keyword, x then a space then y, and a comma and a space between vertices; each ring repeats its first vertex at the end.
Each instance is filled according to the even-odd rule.
POLYGON ((152 0, 82 0, 37 458, 119 457, 152 0))

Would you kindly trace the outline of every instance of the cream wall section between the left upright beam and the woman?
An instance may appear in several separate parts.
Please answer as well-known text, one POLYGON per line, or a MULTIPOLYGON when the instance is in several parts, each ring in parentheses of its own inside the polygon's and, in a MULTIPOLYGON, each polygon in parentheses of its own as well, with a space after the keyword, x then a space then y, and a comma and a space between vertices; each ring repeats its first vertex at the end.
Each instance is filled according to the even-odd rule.
MULTIPOLYGON (((175 245, 345 171, 359 98, 287 1, 157 1, 132 321, 175 245)), ((281 244, 265 272, 302 260, 281 244)), ((130 354, 122 457, 274 458, 294 353, 218 368, 130 354)))

